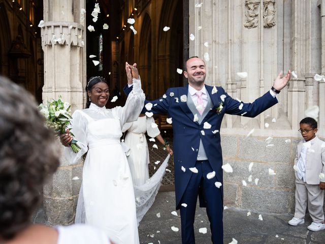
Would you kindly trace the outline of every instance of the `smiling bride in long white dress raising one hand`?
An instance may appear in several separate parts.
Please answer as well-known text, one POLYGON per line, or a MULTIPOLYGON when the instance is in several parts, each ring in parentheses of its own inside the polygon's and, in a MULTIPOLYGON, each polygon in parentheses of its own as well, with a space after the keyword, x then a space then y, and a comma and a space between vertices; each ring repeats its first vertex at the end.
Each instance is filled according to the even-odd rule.
MULTIPOLYGON (((72 132, 81 149, 75 154, 67 147, 65 155, 74 164, 87 153, 75 222, 99 227, 114 242, 129 244, 139 243, 139 236, 132 176, 120 137, 123 125, 137 120, 145 95, 137 69, 127 63, 125 69, 132 69, 136 86, 124 107, 106 109, 107 82, 102 77, 89 79, 86 90, 90 106, 72 115, 72 132)), ((67 131, 60 139, 68 146, 72 137, 67 131)))

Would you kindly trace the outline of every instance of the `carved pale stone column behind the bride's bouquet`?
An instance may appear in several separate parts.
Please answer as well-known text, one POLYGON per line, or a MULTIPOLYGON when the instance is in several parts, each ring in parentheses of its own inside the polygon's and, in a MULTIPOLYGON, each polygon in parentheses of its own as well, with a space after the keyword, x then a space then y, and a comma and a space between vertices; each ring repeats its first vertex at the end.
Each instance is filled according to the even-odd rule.
MULTIPOLYGON (((85 14, 81 8, 85 8, 84 0, 44 1, 41 31, 43 100, 61 96, 72 111, 83 108, 86 82, 85 14)), ((44 187, 44 209, 51 225, 74 222, 81 179, 82 162, 69 165, 62 156, 60 167, 44 187)))

